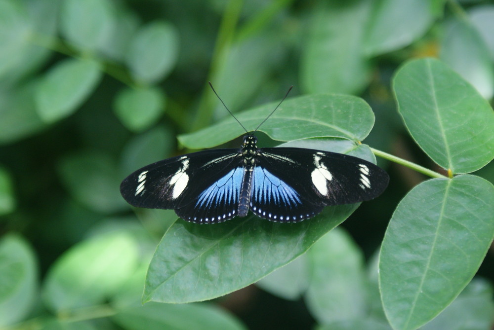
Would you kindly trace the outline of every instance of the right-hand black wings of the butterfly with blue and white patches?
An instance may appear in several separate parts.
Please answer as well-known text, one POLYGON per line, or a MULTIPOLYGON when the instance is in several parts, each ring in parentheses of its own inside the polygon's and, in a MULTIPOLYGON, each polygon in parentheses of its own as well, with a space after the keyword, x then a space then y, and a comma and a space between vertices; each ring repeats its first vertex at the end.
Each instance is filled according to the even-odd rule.
POLYGON ((371 200, 389 182, 371 162, 304 148, 261 148, 253 176, 250 209, 283 222, 311 218, 325 206, 371 200))

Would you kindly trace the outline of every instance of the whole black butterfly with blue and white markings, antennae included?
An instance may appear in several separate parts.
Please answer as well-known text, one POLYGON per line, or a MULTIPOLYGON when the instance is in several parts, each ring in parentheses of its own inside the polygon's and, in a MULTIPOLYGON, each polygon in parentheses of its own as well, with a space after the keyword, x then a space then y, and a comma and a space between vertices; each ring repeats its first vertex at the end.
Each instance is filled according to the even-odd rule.
POLYGON ((249 210, 270 221, 298 222, 326 206, 371 200, 388 185, 383 169, 357 157, 256 144, 247 132, 240 149, 210 149, 158 161, 125 178, 120 192, 135 207, 173 209, 195 223, 245 217, 249 210))

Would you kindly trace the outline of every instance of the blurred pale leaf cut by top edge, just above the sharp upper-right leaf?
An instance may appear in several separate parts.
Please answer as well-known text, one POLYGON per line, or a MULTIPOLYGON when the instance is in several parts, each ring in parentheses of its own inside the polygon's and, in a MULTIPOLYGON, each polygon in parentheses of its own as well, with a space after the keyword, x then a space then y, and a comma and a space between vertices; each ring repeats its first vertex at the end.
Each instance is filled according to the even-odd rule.
POLYGON ((383 0, 374 12, 364 39, 368 56, 384 54, 411 44, 433 22, 430 0, 383 0))

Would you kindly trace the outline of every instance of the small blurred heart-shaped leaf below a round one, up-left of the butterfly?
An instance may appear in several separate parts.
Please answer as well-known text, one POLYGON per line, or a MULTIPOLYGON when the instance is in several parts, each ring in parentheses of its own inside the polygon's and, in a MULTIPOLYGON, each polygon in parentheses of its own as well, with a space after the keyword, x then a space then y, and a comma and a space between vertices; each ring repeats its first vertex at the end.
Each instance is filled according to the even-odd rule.
POLYGON ((127 88, 115 99, 115 114, 126 128, 141 132, 158 121, 165 110, 165 101, 158 88, 127 88))

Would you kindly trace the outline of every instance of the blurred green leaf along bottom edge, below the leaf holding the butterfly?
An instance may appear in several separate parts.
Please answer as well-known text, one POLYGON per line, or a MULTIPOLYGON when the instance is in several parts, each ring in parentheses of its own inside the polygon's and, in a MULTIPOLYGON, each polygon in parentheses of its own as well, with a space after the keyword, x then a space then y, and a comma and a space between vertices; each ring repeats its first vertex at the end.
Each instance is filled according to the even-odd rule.
POLYGON ((119 312, 112 319, 128 330, 240 330, 239 321, 212 304, 148 303, 119 312))

